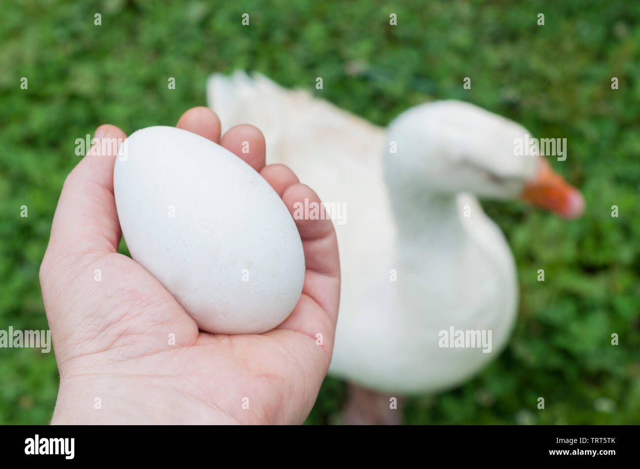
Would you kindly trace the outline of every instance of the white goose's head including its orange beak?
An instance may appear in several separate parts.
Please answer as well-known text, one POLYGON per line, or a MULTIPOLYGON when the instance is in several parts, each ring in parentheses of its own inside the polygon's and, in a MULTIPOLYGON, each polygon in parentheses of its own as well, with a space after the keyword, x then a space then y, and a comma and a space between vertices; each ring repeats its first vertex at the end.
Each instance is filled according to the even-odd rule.
POLYGON ((453 100, 412 107, 389 125, 387 136, 385 178, 394 207, 467 192, 521 198, 564 218, 584 210, 580 192, 529 147, 531 132, 481 107, 453 100))

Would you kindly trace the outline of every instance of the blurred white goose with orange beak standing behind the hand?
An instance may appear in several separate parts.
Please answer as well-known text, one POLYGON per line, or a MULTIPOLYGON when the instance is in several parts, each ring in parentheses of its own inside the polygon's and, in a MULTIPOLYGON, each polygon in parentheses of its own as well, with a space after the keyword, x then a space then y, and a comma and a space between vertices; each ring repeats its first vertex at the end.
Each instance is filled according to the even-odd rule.
POLYGON ((385 129, 245 72, 209 77, 207 102, 224 131, 255 125, 268 163, 286 164, 323 203, 342 207, 329 372, 353 383, 352 414, 374 412, 358 410, 364 402, 388 414, 396 395, 460 385, 506 346, 518 310, 515 261, 476 197, 523 198, 567 219, 584 210, 548 157, 516 152, 530 140, 524 127, 467 102, 420 104, 385 129), (449 337, 461 334, 478 343, 449 337))

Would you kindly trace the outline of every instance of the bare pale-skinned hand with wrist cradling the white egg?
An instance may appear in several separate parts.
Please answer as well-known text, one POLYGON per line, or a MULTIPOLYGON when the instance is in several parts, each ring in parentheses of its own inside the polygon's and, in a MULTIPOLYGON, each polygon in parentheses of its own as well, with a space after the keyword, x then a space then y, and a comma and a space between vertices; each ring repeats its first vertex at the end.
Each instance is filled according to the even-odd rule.
MULTIPOLYGON (((319 202, 289 168, 265 166, 264 137, 255 127, 238 125, 220 139, 220 120, 206 107, 189 109, 177 127, 220 143, 250 164, 290 212, 305 198, 319 202), (249 154, 242 153, 243 141, 249 154)), ((125 134, 101 125, 95 138, 125 134)), ((340 266, 331 221, 296 220, 307 272, 300 301, 285 322, 260 335, 205 333, 156 278, 117 252, 122 233, 113 197, 116 154, 88 154, 68 175, 40 267, 60 370, 51 423, 303 422, 333 349, 340 266), (170 334, 175 345, 168 343, 170 334)))

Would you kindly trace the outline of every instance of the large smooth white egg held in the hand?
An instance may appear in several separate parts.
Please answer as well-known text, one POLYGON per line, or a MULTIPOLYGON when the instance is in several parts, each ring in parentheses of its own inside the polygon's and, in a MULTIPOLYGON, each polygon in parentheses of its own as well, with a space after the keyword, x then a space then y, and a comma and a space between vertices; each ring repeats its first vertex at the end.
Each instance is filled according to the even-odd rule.
POLYGON ((120 147, 113 170, 131 257, 212 333, 262 333, 302 291, 298 229, 269 183, 212 141, 147 127, 120 147))

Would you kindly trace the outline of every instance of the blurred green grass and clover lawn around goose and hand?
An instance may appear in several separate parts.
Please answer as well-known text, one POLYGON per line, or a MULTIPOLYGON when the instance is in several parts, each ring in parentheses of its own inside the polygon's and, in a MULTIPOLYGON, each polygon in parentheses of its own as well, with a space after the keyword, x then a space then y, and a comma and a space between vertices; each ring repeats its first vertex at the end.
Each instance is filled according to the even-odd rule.
MULTIPOLYGON (((518 202, 483 203, 518 264, 515 333, 465 385, 410 399, 406 422, 640 423, 639 20, 640 3, 626 1, 3 0, 0 330, 47 328, 38 269, 51 219, 79 161, 76 138, 101 123, 127 134, 175 125, 206 105, 209 74, 237 68, 380 125, 421 102, 461 99, 534 136, 567 138, 566 162, 552 164, 587 211, 566 223, 518 202), (544 411, 531 410, 538 396, 544 411)), ((49 423, 58 379, 53 353, 0 349, 0 424, 49 423)), ((345 399, 344 383, 326 379, 307 423, 340 423, 345 399)))

